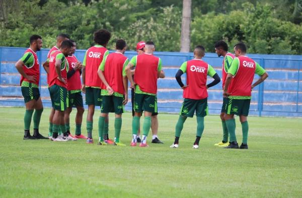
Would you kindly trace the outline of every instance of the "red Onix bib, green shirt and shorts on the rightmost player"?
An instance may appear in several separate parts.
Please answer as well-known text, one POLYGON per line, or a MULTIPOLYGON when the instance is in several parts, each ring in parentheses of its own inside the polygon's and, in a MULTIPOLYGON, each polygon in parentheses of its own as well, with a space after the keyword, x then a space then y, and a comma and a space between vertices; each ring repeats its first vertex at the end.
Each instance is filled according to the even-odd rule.
POLYGON ((228 73, 233 75, 233 79, 228 87, 230 96, 225 107, 226 114, 248 116, 254 74, 263 75, 265 70, 253 59, 239 56, 233 60, 228 73))

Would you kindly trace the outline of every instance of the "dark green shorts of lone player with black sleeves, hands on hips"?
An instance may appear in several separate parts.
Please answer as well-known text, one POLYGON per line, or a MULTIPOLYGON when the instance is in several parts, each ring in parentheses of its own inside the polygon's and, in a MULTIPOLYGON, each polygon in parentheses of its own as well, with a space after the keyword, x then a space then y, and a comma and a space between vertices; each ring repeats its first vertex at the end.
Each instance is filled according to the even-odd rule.
POLYGON ((197 117, 205 117, 208 115, 207 97, 201 100, 185 98, 180 110, 180 115, 193 118, 195 111, 197 117))

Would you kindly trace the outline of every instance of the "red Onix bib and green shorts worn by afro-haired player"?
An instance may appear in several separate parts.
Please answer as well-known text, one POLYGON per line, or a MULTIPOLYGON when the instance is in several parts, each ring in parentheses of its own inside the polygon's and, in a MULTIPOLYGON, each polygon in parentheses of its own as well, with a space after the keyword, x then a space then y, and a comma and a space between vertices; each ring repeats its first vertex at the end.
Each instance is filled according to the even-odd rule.
POLYGON ((86 51, 83 66, 85 67, 86 104, 102 105, 101 86, 102 80, 99 78, 98 69, 103 58, 109 51, 102 45, 95 45, 86 51))

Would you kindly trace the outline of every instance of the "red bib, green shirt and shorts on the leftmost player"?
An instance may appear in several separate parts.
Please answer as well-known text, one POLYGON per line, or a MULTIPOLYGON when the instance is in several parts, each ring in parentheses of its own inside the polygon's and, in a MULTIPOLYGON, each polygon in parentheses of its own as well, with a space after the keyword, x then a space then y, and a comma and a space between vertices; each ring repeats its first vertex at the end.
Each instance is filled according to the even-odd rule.
POLYGON ((21 75, 20 85, 24 102, 30 102, 35 99, 36 101, 40 97, 39 81, 40 81, 40 67, 37 54, 30 48, 28 48, 22 58, 20 59, 24 65, 23 70, 27 75, 35 76, 36 82, 29 81, 27 78, 21 75))

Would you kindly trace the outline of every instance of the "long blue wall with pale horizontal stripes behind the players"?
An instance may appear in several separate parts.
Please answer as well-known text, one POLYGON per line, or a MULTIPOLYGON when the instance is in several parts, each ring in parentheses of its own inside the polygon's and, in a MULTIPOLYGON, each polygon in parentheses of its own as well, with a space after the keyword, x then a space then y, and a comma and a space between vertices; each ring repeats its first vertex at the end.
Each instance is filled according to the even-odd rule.
MULTIPOLYGON (((15 69, 15 62, 23 55, 26 48, 0 47, 0 106, 24 106, 20 75, 15 69)), ((43 63, 49 49, 37 53, 39 62, 43 63)), ((85 50, 77 50, 75 56, 81 61, 85 50)), ((128 58, 136 52, 125 53, 128 58)), ((192 53, 156 52, 163 61, 165 79, 158 80, 159 112, 178 113, 182 103, 182 89, 174 76, 182 62, 193 58, 192 53)), ((250 54, 251 58, 262 65, 269 78, 253 90, 250 115, 302 117, 302 56, 250 54)), ((221 77, 222 57, 206 53, 204 61, 211 64, 221 77)), ((46 73, 40 66, 40 91, 44 107, 50 107, 46 73)), ((254 80, 258 79, 255 76, 254 80)), ((208 79, 211 81, 212 79, 208 79)), ((221 109, 221 82, 209 90, 209 113, 219 114, 221 109)), ((129 92, 130 95, 130 92, 129 92)), ((84 94, 85 96, 85 94, 84 94)), ((130 110, 131 103, 126 106, 130 110)))

